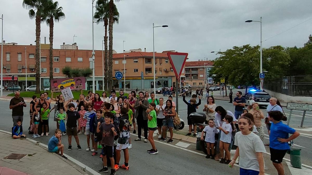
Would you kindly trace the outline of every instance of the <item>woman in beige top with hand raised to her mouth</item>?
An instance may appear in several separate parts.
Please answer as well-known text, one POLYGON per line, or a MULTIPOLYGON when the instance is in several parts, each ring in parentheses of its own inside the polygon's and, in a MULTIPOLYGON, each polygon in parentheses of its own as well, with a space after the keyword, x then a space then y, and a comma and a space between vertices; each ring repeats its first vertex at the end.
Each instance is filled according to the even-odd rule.
POLYGON ((263 141, 264 140, 264 130, 263 130, 262 122, 261 122, 261 120, 264 119, 263 112, 261 110, 259 110, 259 104, 257 102, 253 102, 251 104, 251 106, 252 106, 252 109, 250 111, 248 111, 248 113, 252 114, 252 116, 254 118, 255 126, 256 126, 257 131, 258 131, 258 133, 256 133, 256 134, 263 141))

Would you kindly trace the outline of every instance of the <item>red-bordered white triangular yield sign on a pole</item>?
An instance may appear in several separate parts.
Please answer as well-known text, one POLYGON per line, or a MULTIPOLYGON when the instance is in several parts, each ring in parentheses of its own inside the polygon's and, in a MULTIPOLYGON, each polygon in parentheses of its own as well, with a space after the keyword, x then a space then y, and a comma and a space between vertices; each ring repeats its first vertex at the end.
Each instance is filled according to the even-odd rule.
POLYGON ((179 79, 182 73, 185 61, 188 58, 188 53, 167 52, 167 55, 172 65, 173 71, 176 77, 179 79))

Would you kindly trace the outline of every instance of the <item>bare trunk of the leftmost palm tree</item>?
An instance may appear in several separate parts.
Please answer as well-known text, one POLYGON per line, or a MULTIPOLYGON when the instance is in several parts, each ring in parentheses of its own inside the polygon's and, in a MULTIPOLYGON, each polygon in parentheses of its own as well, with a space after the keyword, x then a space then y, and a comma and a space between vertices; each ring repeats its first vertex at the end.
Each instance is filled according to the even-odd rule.
POLYGON ((40 33, 41 33, 41 17, 38 15, 38 12, 36 14, 36 93, 40 93, 40 33))

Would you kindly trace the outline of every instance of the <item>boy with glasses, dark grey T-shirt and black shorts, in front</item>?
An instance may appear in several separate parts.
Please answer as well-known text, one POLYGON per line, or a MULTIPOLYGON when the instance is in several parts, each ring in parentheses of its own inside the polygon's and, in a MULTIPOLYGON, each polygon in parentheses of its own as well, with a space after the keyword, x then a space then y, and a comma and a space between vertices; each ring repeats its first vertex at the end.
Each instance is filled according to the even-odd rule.
POLYGON ((108 172, 108 168, 107 168, 107 158, 106 156, 108 156, 110 158, 110 164, 112 166, 112 169, 110 169, 110 174, 115 175, 115 169, 114 169, 114 165, 115 165, 115 160, 113 157, 113 152, 114 152, 114 136, 117 135, 116 131, 115 131, 115 127, 113 124, 111 124, 111 119, 113 118, 113 114, 111 112, 105 112, 104 113, 104 120, 105 122, 100 124, 100 122, 98 122, 97 124, 97 128, 96 128, 96 132, 101 132, 102 135, 102 155, 103 155, 103 168, 100 169, 98 172, 99 173, 107 173, 108 172))

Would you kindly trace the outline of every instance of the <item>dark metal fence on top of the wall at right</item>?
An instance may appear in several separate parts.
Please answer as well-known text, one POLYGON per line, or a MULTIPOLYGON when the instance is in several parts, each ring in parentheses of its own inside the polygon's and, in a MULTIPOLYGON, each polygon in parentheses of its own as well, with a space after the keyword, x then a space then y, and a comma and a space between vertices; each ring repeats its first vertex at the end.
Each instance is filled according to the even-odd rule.
POLYGON ((264 81, 263 87, 290 96, 312 97, 312 76, 287 76, 264 81))

